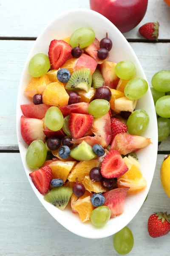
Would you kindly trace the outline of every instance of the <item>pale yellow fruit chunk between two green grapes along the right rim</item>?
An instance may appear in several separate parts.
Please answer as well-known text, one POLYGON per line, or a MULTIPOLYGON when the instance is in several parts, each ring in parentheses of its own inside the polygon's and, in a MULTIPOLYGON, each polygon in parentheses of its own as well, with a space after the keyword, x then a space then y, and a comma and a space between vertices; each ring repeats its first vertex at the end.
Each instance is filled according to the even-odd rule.
POLYGON ((115 109, 116 111, 129 111, 133 112, 137 104, 136 100, 127 99, 126 97, 122 97, 115 100, 115 109))

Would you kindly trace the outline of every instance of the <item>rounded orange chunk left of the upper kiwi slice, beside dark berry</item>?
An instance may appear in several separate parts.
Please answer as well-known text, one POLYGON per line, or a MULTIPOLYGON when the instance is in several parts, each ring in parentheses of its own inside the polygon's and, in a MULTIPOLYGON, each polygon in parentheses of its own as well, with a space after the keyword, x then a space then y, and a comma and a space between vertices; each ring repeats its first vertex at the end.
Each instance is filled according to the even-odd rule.
POLYGON ((42 95, 42 101, 46 105, 63 107, 68 105, 69 95, 60 82, 48 84, 42 95))

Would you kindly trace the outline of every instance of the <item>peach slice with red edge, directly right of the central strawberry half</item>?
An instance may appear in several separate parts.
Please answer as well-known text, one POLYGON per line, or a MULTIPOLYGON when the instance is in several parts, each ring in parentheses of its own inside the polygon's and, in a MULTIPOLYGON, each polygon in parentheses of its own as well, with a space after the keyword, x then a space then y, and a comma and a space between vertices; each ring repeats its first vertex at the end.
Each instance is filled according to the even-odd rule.
POLYGON ((94 118, 92 131, 95 135, 101 136, 105 140, 102 146, 106 148, 111 142, 111 117, 109 113, 100 118, 94 118))

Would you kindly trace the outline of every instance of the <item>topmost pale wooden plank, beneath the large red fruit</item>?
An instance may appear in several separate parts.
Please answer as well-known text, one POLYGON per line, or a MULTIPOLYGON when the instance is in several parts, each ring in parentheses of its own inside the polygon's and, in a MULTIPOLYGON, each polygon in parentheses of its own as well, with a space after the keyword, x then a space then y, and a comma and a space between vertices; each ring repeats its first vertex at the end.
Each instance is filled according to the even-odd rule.
MULTIPOLYGON (((147 13, 142 22, 130 32, 125 33, 127 39, 141 38, 138 29, 146 22, 160 23, 159 39, 170 39, 170 8, 163 0, 149 0, 147 13)), ((0 36, 1 37, 37 37, 45 25, 55 16, 72 8, 88 8, 88 0, 51 0, 44 8, 41 0, 1 1, 0 6, 0 36)))

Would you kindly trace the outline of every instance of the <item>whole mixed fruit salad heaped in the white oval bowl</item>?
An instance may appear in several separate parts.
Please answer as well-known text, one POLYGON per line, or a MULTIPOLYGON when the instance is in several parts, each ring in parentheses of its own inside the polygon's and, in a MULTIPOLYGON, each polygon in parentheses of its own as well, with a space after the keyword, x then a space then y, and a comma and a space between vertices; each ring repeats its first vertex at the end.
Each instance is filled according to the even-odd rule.
POLYGON ((34 186, 94 227, 122 214, 126 195, 147 186, 136 152, 151 143, 141 136, 149 116, 135 108, 148 84, 131 61, 108 61, 112 47, 108 33, 99 41, 88 27, 52 40, 48 55, 29 62, 30 103, 21 105, 34 186))

